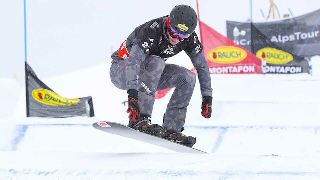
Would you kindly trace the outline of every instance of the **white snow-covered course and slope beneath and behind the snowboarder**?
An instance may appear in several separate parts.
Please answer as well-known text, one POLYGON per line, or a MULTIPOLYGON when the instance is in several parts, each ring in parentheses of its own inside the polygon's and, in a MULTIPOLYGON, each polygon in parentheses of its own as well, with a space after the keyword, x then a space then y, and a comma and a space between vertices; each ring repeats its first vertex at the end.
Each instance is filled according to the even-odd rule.
MULTIPOLYGON (((179 64, 185 58, 182 54, 174 60, 179 64)), ((195 148, 210 154, 196 155, 91 127, 102 120, 127 123, 122 104, 127 95, 110 83, 109 67, 107 61, 42 79, 64 97, 91 95, 93 118, 25 118, 25 91, 21 88, 14 114, 1 121, 5 131, 0 137, 0 179, 320 177, 319 76, 212 75, 210 119, 200 115, 197 83, 184 132, 197 137, 195 148)), ((156 100, 153 123, 162 123, 171 93, 156 100)))

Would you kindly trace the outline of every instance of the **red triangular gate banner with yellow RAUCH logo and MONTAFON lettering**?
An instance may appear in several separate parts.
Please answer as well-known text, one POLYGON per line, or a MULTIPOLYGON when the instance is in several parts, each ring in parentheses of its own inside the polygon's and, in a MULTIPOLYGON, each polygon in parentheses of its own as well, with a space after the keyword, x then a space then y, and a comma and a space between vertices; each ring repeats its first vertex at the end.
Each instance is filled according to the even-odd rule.
POLYGON ((262 73, 261 60, 199 21, 203 54, 211 74, 262 73))

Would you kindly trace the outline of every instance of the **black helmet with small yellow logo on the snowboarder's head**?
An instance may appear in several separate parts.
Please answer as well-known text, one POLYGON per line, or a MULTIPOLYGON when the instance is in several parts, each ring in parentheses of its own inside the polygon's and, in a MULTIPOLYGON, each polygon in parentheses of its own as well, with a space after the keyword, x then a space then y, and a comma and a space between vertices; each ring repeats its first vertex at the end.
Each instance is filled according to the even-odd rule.
POLYGON ((198 24, 198 16, 188 5, 175 6, 168 18, 172 28, 181 34, 192 34, 198 24))

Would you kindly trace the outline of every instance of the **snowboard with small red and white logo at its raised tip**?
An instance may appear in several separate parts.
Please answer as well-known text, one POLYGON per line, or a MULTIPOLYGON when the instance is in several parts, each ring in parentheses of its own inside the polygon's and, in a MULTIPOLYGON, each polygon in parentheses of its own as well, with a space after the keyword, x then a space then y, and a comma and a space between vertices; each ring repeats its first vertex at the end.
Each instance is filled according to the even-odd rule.
POLYGON ((149 144, 157 145, 160 147, 164 147, 176 152, 181 153, 195 153, 195 154, 206 154, 207 152, 203 152, 201 150, 179 144, 176 142, 172 142, 167 139, 163 139, 161 137, 157 137, 154 135, 146 134, 143 132, 139 132, 137 130, 134 130, 126 125, 116 123, 116 122, 95 122, 92 125, 94 128, 98 130, 102 130, 104 132, 108 132, 111 134, 119 135, 122 137, 127 137, 134 140, 139 140, 142 142, 146 142, 149 144))

